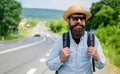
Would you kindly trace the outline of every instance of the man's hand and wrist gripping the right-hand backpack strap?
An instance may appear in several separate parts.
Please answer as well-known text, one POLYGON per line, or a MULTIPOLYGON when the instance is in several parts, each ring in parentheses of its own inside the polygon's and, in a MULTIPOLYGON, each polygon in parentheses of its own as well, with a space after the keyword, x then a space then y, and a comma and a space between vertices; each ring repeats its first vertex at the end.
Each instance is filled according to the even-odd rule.
POLYGON ((92 47, 92 46, 88 47, 88 54, 90 54, 96 61, 99 60, 96 47, 92 47))

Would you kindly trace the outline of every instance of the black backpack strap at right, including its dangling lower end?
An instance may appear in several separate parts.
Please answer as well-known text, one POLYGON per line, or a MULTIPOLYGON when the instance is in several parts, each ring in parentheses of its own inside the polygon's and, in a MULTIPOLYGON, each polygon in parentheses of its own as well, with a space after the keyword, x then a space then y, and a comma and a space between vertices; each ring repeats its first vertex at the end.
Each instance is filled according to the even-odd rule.
MULTIPOLYGON (((88 47, 89 46, 93 46, 95 45, 95 36, 92 32, 88 32, 87 31, 87 34, 88 34, 88 39, 87 39, 87 45, 88 47)), ((94 59, 92 58, 92 66, 93 66, 93 72, 95 72, 95 61, 94 59)))

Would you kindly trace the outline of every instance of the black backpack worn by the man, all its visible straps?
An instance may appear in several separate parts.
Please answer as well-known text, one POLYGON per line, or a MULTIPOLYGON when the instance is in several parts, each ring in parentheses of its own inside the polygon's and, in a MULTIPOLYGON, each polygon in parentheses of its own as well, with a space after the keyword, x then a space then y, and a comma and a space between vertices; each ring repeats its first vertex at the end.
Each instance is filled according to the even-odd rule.
MULTIPOLYGON (((92 32, 87 31, 88 34, 88 38, 87 38, 87 45, 89 46, 93 46, 95 44, 95 36, 92 32)), ((70 36, 69 36, 69 32, 65 32, 63 34, 63 48, 64 47, 70 47, 70 36)), ((93 72, 95 72, 95 62, 94 59, 92 58, 92 67, 93 67, 93 72)), ((55 74, 58 74, 58 71, 55 72, 55 74)))

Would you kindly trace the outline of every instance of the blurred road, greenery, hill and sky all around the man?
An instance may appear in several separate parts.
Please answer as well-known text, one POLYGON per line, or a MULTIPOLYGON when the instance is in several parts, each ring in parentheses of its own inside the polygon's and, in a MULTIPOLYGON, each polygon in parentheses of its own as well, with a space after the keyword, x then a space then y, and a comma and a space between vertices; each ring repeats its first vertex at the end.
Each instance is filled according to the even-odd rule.
POLYGON ((0 74, 53 74, 45 64, 56 38, 69 27, 62 13, 80 4, 92 13, 107 64, 94 74, 120 74, 120 0, 1 0, 0 74))

